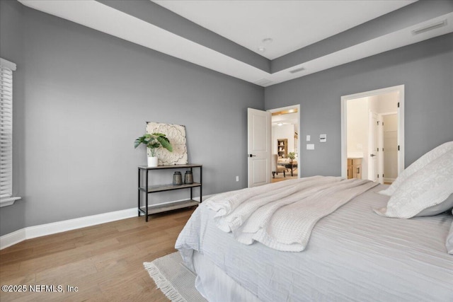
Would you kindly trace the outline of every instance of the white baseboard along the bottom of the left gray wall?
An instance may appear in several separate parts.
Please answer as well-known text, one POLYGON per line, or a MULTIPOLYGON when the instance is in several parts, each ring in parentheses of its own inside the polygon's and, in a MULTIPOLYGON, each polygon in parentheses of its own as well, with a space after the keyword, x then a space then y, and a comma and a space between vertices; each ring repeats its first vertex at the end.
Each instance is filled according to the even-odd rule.
MULTIPOLYGON (((207 197, 210 196, 211 195, 204 196, 203 200, 206 200, 207 197)), ((198 201, 200 200, 200 197, 194 197, 193 199, 198 201)), ((16 243, 20 243, 23 240, 76 230, 77 228, 85 228, 87 226, 96 226, 96 224, 127 219, 135 217, 137 215, 137 208, 132 208, 121 211, 111 211, 104 214, 85 216, 76 219, 46 223, 41 224, 40 226, 29 226, 27 228, 22 228, 21 230, 14 231, 13 233, 8 233, 4 236, 1 236, 0 250, 8 248, 11 245, 15 245, 16 243)))

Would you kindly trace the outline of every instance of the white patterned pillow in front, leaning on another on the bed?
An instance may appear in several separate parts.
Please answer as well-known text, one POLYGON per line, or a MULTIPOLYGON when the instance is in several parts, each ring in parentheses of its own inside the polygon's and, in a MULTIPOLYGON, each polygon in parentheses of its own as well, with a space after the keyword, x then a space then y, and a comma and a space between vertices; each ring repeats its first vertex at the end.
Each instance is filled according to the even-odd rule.
POLYGON ((411 218, 444 202, 453 193, 453 150, 413 173, 391 195, 387 207, 374 209, 382 216, 411 218))

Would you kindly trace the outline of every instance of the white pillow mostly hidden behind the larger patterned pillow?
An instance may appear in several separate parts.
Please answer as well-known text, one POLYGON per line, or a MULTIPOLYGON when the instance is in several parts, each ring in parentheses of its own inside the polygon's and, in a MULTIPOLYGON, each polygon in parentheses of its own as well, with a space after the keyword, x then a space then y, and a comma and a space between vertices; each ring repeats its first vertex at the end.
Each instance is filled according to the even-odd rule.
POLYGON ((442 156, 442 154, 445 154, 447 151, 452 150, 453 141, 448 141, 447 143, 437 146, 431 151, 428 151, 423 156, 418 158, 417 161, 414 161, 411 165, 409 165, 408 168, 404 169, 403 172, 398 175, 398 178, 396 178, 396 180, 390 185, 390 187, 388 187, 386 190, 380 191, 379 194, 391 196, 392 194, 394 194, 394 192, 396 192, 398 187, 401 186, 405 180, 413 175, 413 173, 425 167, 425 165, 428 165, 428 163, 435 160, 439 156, 442 156))

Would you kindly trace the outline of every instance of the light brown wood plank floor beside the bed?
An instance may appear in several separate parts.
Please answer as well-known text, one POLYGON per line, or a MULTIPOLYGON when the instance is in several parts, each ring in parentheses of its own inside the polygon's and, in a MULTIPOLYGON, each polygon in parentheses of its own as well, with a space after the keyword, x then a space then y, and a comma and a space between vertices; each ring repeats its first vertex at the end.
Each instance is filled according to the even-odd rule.
POLYGON ((0 301, 168 301, 143 262, 176 251, 176 238, 194 210, 156 214, 148 222, 141 216, 103 223, 5 248, 1 286, 25 285, 27 291, 2 290, 0 301), (55 292, 45 291, 46 285, 55 292), (58 292, 59 285, 65 292, 58 292), (42 291, 30 292, 33 286, 42 291))

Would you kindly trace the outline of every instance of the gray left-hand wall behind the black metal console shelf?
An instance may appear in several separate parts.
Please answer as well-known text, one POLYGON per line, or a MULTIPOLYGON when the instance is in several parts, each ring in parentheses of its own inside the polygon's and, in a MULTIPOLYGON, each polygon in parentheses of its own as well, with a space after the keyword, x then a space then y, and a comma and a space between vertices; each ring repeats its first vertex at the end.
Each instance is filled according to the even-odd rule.
POLYGON ((18 66, 13 173, 23 197, 0 209, 1 235, 135 207, 146 155, 133 142, 146 121, 185 125, 204 194, 246 187, 246 108, 263 109, 264 88, 17 1, 1 1, 0 20, 0 55, 18 66))

